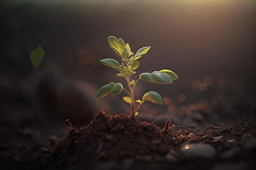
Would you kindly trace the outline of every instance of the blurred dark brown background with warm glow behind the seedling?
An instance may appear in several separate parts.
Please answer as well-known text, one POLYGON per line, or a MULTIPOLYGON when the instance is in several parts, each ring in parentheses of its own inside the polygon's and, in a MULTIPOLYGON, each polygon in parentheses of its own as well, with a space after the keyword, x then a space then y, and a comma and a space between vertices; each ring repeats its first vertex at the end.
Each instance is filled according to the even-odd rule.
POLYGON ((100 109, 130 115, 124 92, 95 97, 109 82, 126 87, 115 70, 99 62, 120 62, 108 47, 109 35, 129 43, 134 53, 152 46, 139 59, 134 79, 161 69, 179 76, 173 84, 137 84, 136 99, 152 90, 164 101, 162 106, 145 102, 141 120, 162 124, 171 117, 173 124, 195 126, 255 121, 255 0, 0 3, 0 112, 5 125, 51 126, 50 119, 63 124, 69 118, 80 126, 100 109), (29 53, 38 45, 45 58, 35 69, 29 53))

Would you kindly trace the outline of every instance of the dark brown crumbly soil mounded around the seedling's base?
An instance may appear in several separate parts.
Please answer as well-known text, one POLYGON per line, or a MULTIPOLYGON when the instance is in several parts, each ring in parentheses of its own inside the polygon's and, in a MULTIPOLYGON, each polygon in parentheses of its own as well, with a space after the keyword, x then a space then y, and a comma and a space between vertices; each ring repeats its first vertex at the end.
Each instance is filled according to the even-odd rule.
POLYGON ((56 142, 54 139, 40 142, 34 135, 29 135, 27 146, 1 146, 1 151, 10 152, 9 157, 1 159, 1 165, 3 169, 16 170, 254 169, 255 146, 236 150, 236 154, 228 158, 221 155, 242 148, 245 144, 241 140, 243 135, 249 133, 255 137, 255 124, 243 121, 236 126, 210 125, 199 130, 169 127, 169 123, 167 120, 161 130, 154 123, 141 122, 124 114, 110 116, 101 110, 86 127, 73 128, 66 120, 70 130, 56 142), (214 138, 219 136, 223 136, 222 139, 214 138), (230 144, 229 139, 236 142, 230 144), (180 148, 193 143, 209 144, 217 155, 212 158, 187 157, 180 148), (166 156, 170 154, 171 158, 166 156))

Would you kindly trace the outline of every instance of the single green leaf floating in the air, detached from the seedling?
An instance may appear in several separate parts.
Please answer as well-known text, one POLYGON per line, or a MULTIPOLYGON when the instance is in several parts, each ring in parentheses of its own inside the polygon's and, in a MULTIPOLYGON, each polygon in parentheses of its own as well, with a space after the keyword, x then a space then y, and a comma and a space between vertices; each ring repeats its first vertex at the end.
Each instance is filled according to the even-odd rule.
POLYGON ((38 46, 38 49, 34 49, 33 51, 31 51, 29 58, 34 68, 38 68, 38 66, 43 61, 44 56, 45 51, 41 48, 40 45, 38 46))

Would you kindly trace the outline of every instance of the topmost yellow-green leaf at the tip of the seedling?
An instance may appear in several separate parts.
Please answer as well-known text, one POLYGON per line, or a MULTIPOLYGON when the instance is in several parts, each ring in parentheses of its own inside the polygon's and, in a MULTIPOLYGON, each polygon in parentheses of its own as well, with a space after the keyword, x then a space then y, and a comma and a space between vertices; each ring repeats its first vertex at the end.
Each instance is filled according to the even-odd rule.
POLYGON ((117 38, 115 36, 108 37, 108 44, 117 51, 117 53, 123 57, 128 58, 129 52, 128 49, 125 48, 126 44, 123 39, 117 38), (127 57, 126 57, 127 56, 127 57))

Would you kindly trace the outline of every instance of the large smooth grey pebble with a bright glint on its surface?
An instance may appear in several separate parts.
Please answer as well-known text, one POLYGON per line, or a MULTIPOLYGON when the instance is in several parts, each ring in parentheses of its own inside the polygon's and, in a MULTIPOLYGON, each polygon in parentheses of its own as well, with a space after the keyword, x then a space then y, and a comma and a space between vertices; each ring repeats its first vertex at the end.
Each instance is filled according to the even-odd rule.
POLYGON ((217 152, 209 144, 188 144, 180 148, 181 152, 186 157, 202 157, 202 158, 212 158, 217 152))

